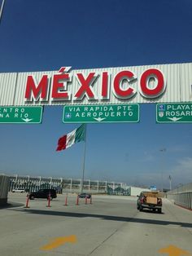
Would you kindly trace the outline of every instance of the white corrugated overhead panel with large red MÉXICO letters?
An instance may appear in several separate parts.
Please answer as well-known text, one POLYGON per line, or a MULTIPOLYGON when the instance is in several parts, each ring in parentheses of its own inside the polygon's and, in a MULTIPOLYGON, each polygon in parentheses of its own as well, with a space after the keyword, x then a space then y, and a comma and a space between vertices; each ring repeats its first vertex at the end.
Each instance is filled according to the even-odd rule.
POLYGON ((0 105, 190 102, 192 64, 0 73, 0 105))

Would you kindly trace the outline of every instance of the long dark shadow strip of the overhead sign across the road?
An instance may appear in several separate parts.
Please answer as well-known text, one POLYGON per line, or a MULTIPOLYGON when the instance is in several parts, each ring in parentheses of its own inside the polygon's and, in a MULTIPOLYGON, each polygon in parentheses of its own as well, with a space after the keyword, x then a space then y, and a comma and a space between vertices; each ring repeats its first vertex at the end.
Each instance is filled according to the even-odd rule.
POLYGON ((120 217, 120 216, 111 216, 111 215, 102 215, 102 214, 82 214, 82 213, 72 213, 72 212, 63 212, 55 210, 33 210, 33 209, 17 209, 16 211, 22 211, 26 214, 45 214, 53 216, 63 216, 63 217, 74 217, 74 218, 101 218, 106 220, 121 221, 121 222, 130 222, 130 223, 145 223, 145 224, 155 224, 155 225, 178 225, 181 227, 192 227, 192 223, 180 223, 172 222, 166 220, 156 220, 156 219, 146 219, 146 218, 129 218, 129 217, 120 217))

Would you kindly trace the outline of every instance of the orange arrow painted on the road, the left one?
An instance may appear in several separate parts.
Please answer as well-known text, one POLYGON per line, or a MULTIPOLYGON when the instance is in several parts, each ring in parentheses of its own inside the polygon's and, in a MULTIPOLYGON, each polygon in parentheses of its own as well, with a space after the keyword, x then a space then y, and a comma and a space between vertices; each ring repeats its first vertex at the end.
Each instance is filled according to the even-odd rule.
POLYGON ((50 249, 55 249, 61 245, 64 245, 66 243, 76 243, 76 236, 60 236, 55 238, 53 241, 50 241, 49 244, 42 246, 40 249, 44 250, 50 250, 50 249))

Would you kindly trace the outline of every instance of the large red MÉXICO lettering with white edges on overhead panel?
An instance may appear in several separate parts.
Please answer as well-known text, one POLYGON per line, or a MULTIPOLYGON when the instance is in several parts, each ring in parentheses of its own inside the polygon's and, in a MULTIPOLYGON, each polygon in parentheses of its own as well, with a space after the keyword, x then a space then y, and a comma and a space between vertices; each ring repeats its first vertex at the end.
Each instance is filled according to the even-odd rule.
MULTIPOLYGON (((107 71, 99 73, 99 77, 95 72, 90 72, 87 75, 84 73, 75 73, 73 76, 76 77, 76 81, 80 86, 77 90, 72 87, 72 91, 70 91, 68 90, 68 82, 72 81, 72 74, 68 73, 70 68, 71 67, 62 67, 59 69, 59 73, 53 74, 50 92, 52 100, 76 101, 83 100, 84 97, 88 100, 110 100, 111 89, 117 99, 129 99, 137 93, 137 91, 130 86, 131 83, 135 82, 136 78, 134 73, 129 70, 122 70, 117 73, 113 81, 111 81, 111 75, 107 71), (97 77, 98 81, 95 82, 97 77), (98 92, 98 95, 94 91, 93 86, 100 86, 100 88, 96 88, 95 90, 98 92)), ((74 84, 72 83, 71 85, 73 86, 74 84)), ((159 95, 164 93, 166 88, 164 74, 157 68, 147 69, 142 73, 135 86, 138 86, 140 94, 146 98, 159 97, 159 95), (151 80, 153 80, 153 82, 151 82, 151 80)), ((38 82, 36 82, 33 75, 28 75, 24 99, 26 101, 48 101, 49 90, 49 75, 42 75, 41 80, 38 82)))

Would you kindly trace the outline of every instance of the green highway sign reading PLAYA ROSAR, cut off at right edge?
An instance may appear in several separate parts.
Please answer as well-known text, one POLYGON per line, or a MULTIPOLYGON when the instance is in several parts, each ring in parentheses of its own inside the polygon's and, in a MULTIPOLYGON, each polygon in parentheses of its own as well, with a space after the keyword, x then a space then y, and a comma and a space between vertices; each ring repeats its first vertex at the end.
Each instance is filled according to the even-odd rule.
POLYGON ((192 103, 156 104, 158 123, 192 122, 192 103))

